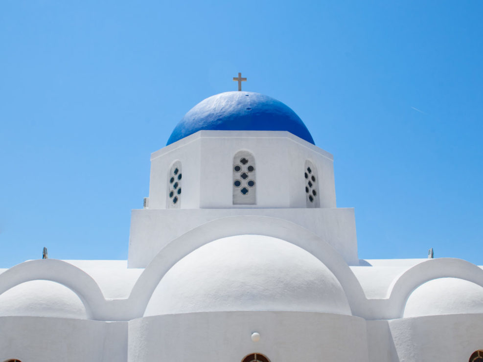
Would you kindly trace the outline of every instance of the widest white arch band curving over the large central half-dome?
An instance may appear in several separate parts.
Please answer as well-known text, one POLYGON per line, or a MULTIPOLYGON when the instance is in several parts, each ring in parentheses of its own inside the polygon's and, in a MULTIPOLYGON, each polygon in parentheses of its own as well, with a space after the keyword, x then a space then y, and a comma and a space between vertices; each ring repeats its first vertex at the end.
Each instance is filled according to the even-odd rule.
POLYGON ((344 258, 309 230, 287 220, 267 216, 230 216, 198 226, 171 241, 154 257, 139 276, 129 296, 133 314, 139 317, 163 275, 191 251, 228 236, 257 234, 292 243, 318 258, 339 280, 353 315, 363 315, 367 299, 359 281, 344 258), (269 225, 270 227, 267 227, 269 225))

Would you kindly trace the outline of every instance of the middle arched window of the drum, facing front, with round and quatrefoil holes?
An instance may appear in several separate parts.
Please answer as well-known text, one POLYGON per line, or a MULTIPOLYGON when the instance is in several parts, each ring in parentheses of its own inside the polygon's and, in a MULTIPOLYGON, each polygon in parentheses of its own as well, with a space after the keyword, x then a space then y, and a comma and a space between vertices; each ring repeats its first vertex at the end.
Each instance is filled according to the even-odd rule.
POLYGON ((255 158, 248 151, 233 157, 233 205, 256 204, 255 158))

